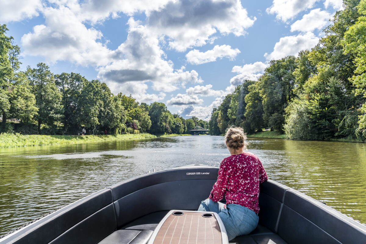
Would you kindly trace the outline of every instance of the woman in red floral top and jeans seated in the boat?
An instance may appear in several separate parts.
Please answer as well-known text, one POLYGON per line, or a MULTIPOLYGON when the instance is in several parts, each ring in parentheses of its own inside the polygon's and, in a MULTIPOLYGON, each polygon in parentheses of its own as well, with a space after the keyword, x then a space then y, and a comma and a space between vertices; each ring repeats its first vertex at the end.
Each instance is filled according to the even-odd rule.
POLYGON ((211 194, 198 208, 219 214, 229 240, 249 234, 257 227, 259 183, 268 179, 258 157, 243 151, 249 144, 246 139, 242 128, 228 129, 225 143, 231 156, 221 162, 211 194), (226 204, 219 202, 224 195, 226 204))

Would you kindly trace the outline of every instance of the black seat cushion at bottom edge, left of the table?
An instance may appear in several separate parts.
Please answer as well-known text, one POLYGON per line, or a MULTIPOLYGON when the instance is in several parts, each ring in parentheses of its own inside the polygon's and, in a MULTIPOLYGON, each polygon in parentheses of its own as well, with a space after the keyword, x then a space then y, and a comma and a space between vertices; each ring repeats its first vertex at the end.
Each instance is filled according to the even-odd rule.
POLYGON ((153 230, 116 230, 98 244, 146 244, 153 230))

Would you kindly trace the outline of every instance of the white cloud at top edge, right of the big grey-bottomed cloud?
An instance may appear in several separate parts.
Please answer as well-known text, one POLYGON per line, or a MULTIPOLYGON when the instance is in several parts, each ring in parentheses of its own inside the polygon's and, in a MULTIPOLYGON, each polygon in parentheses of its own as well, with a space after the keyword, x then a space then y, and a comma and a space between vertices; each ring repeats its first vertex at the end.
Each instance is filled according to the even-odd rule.
POLYGON ((300 12, 312 8, 319 0, 273 0, 266 9, 268 14, 276 14, 276 18, 286 22, 293 19, 300 12))

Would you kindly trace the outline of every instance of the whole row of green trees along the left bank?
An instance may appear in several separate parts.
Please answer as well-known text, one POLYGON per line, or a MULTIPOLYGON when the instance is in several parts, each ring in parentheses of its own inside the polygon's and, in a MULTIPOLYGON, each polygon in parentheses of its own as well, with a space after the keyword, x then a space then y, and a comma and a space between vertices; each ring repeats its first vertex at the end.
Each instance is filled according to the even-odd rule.
POLYGON ((189 133, 197 117, 172 114, 162 102, 139 103, 131 95, 114 95, 99 80, 80 74, 52 74, 44 63, 20 70, 20 48, 0 25, 0 132, 22 134, 189 133), (12 122, 13 121, 13 122, 12 122))

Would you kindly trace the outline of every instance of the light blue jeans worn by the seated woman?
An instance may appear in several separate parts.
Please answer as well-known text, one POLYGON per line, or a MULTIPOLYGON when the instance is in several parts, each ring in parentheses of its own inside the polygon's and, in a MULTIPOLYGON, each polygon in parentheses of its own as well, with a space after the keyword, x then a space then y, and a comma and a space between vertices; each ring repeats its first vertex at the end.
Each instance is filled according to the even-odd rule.
POLYGON ((258 215, 238 204, 227 204, 226 209, 224 203, 213 202, 206 199, 199 205, 198 211, 209 211, 219 214, 223 221, 228 239, 232 240, 237 236, 249 234, 258 225, 258 215))

